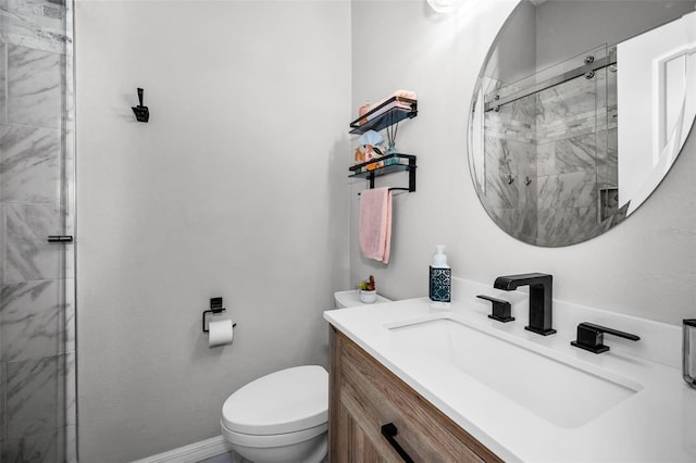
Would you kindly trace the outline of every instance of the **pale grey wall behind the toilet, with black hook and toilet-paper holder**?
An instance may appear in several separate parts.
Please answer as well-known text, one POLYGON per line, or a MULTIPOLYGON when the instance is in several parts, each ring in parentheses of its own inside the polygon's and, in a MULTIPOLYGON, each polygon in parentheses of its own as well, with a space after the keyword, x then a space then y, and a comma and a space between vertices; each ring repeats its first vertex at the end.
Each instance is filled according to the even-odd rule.
POLYGON ((219 435, 231 392, 326 363, 322 311, 348 286, 349 10, 77 2, 80 461, 219 435), (215 296, 238 325, 209 349, 215 296))

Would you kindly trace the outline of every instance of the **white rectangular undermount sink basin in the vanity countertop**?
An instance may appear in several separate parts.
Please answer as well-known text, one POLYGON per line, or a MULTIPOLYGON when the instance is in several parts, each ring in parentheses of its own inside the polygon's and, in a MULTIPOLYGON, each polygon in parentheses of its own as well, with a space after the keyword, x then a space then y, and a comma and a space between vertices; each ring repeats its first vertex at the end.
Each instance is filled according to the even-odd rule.
POLYGON ((385 327, 405 350, 444 362, 563 428, 583 426, 643 388, 594 365, 480 330, 449 313, 385 327))

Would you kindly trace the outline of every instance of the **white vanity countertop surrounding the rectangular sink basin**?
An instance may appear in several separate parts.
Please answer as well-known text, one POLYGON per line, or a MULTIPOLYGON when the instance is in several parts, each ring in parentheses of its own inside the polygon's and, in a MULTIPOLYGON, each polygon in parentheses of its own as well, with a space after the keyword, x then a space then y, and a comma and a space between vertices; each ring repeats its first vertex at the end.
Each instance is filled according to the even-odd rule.
MULTIPOLYGON (((481 288, 474 287, 476 289, 481 288)), ((494 290, 486 293, 500 296, 494 290)), ((671 361, 660 363, 646 359, 659 358, 660 353, 638 356, 630 353, 630 345, 606 337, 605 343, 612 347, 610 351, 586 352, 570 346, 574 327, 561 329, 555 325, 558 334, 548 337, 524 330, 526 323, 520 303, 526 295, 514 291, 502 298, 506 296, 513 302, 515 322, 502 324, 488 318, 486 303, 470 300, 471 295, 463 301, 452 302, 447 316, 478 331, 514 339, 518 346, 563 363, 599 372, 599 376, 606 373, 626 378, 638 384, 639 390, 587 423, 562 427, 520 406, 475 377, 452 372, 451 366, 432 361, 426 354, 420 355, 413 349, 403 349, 403 340, 398 340, 388 326, 423 316, 439 316, 443 311, 431 309, 426 298, 326 311, 324 318, 506 461, 696 462, 696 389, 684 383, 681 370, 675 367, 674 349, 670 350, 671 361)), ((597 323, 599 318, 618 329, 632 324, 632 333, 642 337, 638 341, 642 347, 635 349, 642 354, 646 346, 678 345, 673 339, 662 341, 660 336, 671 339, 681 335, 680 327, 662 327, 649 321, 643 325, 637 318, 626 322, 625 316, 624 325, 612 326, 606 322, 607 317, 611 322, 612 314, 592 311, 581 311, 585 317, 597 314, 584 321, 597 323)), ((678 341, 681 342, 681 338, 678 341)), ((506 365, 490 367, 505 368, 506 365)), ((514 381, 514 377, 509 380, 514 381)), ((568 401, 572 401, 577 391, 572 387, 568 389, 564 393, 568 401)))

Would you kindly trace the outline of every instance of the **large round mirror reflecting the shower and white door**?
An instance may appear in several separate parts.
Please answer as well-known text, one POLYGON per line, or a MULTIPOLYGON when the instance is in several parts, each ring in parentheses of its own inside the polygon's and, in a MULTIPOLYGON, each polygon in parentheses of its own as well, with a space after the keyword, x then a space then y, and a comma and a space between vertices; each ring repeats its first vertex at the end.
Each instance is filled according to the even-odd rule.
POLYGON ((469 164, 509 235, 569 246, 625 220, 696 115, 696 1, 521 0, 482 67, 469 164))

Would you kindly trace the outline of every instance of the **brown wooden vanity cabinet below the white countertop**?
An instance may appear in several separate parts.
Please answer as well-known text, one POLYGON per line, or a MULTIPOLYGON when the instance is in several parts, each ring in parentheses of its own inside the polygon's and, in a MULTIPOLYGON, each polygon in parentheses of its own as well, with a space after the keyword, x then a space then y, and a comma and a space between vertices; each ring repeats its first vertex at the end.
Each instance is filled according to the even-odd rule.
POLYGON ((414 462, 499 462, 490 450, 330 327, 330 462, 403 462, 382 435, 394 423, 414 462))

